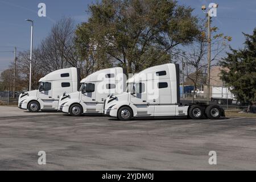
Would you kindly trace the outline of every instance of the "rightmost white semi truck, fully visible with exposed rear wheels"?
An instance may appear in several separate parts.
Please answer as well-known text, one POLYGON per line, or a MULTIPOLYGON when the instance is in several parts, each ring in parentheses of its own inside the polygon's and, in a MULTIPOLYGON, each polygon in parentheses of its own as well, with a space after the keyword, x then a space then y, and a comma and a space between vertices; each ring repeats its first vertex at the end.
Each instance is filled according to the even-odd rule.
POLYGON ((144 69, 127 80, 127 90, 104 101, 105 115, 120 120, 133 117, 188 116, 192 119, 225 116, 218 105, 180 104, 179 64, 144 69))

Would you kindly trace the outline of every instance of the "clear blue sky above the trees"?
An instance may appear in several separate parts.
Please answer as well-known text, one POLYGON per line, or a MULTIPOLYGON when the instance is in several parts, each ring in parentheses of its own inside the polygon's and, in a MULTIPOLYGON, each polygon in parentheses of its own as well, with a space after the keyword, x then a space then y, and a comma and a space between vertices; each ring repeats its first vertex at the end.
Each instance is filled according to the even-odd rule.
MULTIPOLYGON (((86 10, 88 5, 95 1, 86 0, 0 0, 0 72, 7 68, 13 61, 11 52, 14 47, 18 51, 30 49, 30 23, 24 19, 33 19, 34 46, 36 47, 51 30, 52 25, 62 16, 72 17, 76 23, 84 22, 88 18, 86 10), (46 3, 47 17, 38 16, 38 4, 46 3)), ((244 37, 242 32, 251 34, 256 27, 256 0, 232 1, 232 0, 181 0, 180 5, 191 6, 194 15, 204 18, 201 5, 209 5, 210 2, 218 3, 217 17, 213 20, 213 26, 220 28, 220 32, 232 36, 230 46, 242 47, 244 37)))

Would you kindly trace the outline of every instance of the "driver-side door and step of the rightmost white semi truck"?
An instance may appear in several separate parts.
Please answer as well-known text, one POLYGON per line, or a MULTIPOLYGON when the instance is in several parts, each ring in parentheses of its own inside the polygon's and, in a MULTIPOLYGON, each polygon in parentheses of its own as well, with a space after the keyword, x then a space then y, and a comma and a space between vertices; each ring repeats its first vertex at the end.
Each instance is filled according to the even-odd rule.
POLYGON ((150 104, 147 99, 146 81, 134 83, 133 90, 135 93, 131 93, 131 102, 136 107, 133 113, 134 116, 154 116, 154 105, 150 104))

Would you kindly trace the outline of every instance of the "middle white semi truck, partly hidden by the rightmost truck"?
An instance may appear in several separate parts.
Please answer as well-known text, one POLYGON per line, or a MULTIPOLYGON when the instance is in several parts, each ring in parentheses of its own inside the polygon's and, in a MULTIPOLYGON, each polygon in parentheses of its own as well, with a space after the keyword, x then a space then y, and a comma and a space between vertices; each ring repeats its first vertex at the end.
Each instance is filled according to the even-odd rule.
POLYGON ((82 79, 78 92, 64 94, 59 101, 59 110, 73 116, 104 114, 106 97, 125 90, 126 77, 122 68, 102 69, 82 79))

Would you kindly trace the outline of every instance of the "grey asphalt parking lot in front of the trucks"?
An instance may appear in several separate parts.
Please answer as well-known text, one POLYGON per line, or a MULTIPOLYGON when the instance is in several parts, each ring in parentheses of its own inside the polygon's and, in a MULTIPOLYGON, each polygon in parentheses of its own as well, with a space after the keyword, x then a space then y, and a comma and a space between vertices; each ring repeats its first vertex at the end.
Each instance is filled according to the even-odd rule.
POLYGON ((256 169, 255 118, 123 122, 10 109, 0 107, 0 170, 256 169))

